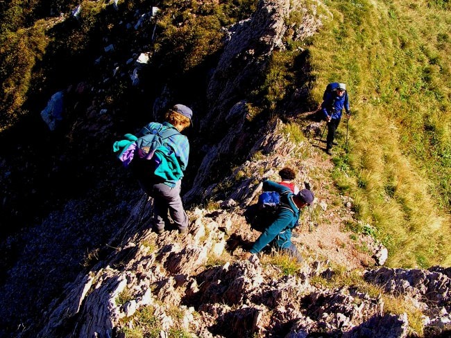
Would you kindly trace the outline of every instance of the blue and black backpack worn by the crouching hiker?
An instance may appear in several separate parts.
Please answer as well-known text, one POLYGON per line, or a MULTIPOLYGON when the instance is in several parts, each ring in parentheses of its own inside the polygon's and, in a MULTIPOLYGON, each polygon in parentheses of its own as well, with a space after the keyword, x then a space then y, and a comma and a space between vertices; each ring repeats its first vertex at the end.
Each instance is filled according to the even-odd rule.
MULTIPOLYGON (((288 195, 290 190, 282 193, 288 195)), ((277 218, 280 208, 288 208, 289 206, 283 204, 281 195, 276 191, 264 191, 258 197, 257 204, 253 204, 246 210, 245 217, 250 224, 250 229, 264 232, 277 218)))

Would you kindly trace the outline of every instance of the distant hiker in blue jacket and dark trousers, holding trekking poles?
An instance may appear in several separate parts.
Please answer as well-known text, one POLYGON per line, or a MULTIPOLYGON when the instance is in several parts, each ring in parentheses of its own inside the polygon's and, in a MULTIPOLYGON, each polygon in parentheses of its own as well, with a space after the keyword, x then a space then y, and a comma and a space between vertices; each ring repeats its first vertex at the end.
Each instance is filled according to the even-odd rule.
POLYGON ((327 88, 323 95, 323 103, 321 103, 321 111, 325 121, 327 121, 327 145, 325 151, 332 155, 332 146, 337 145, 334 142, 335 131, 337 130, 343 108, 346 110, 346 117, 350 118, 348 91, 346 84, 332 82, 327 84, 327 88))

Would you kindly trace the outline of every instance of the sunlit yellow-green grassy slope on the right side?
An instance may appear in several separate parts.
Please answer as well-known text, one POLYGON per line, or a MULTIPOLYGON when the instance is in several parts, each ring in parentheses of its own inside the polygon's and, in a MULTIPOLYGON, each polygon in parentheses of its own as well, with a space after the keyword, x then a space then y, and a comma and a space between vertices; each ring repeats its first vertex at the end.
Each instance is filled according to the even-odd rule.
POLYGON ((309 47, 312 95, 321 102, 327 82, 346 82, 355 112, 350 152, 335 159, 337 182, 380 231, 389 265, 450 265, 449 5, 325 5, 333 19, 309 47))

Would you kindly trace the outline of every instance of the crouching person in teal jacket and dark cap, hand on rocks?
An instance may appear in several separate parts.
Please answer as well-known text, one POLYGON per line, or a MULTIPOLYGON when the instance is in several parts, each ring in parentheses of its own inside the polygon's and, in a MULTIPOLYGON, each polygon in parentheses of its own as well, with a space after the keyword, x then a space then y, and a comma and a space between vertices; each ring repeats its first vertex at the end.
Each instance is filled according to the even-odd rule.
POLYGON ((308 189, 302 189, 296 195, 291 193, 290 188, 273 181, 263 182, 264 191, 277 191, 280 194, 282 207, 278 209, 276 219, 264 232, 257 238, 252 248, 244 254, 244 258, 249 258, 253 253, 259 253, 267 244, 282 250, 286 250, 289 255, 302 262, 296 245, 291 242, 291 229, 298 225, 300 211, 304 206, 312 204, 314 195, 308 189), (290 191, 288 194, 282 194, 290 191))

